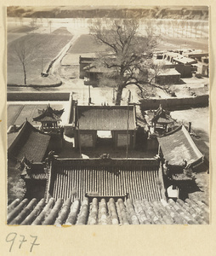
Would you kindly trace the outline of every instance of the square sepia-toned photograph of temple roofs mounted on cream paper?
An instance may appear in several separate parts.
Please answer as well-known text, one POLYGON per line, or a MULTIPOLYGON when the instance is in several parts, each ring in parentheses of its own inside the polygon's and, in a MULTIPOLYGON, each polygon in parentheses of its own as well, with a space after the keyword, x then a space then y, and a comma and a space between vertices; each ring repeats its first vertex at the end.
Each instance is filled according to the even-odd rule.
POLYGON ((210 223, 209 15, 7 7, 8 225, 210 223))

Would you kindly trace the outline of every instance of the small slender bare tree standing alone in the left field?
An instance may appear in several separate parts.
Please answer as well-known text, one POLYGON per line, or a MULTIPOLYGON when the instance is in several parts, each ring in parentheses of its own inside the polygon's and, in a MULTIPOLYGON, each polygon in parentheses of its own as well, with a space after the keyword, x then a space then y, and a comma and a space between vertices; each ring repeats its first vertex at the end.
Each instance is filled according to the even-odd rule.
POLYGON ((32 50, 31 48, 27 47, 27 44, 24 40, 21 40, 13 44, 12 51, 13 51, 14 57, 20 61, 20 64, 23 69, 23 74, 24 74, 24 84, 26 85, 26 79, 27 79, 26 68, 27 68, 27 64, 31 61, 32 50))

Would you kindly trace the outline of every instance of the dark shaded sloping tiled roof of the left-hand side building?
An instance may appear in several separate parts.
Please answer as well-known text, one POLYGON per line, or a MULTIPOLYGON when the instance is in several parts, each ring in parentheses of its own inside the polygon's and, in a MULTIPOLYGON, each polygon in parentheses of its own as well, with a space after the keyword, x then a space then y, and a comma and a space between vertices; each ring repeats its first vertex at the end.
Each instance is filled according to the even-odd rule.
POLYGON ((48 149, 50 136, 34 128, 26 121, 20 128, 14 141, 9 144, 9 154, 21 160, 26 154, 28 160, 41 162, 48 149))

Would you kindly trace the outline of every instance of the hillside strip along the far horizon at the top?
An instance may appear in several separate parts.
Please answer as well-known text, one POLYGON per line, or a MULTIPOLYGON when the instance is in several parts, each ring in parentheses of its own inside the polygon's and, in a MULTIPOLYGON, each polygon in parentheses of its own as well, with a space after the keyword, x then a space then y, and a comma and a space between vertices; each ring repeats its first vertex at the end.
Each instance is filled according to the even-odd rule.
POLYGON ((85 7, 14 7, 7 9, 9 17, 36 17, 36 18, 156 18, 179 20, 207 20, 207 6, 200 7, 152 7, 152 8, 98 8, 85 7))

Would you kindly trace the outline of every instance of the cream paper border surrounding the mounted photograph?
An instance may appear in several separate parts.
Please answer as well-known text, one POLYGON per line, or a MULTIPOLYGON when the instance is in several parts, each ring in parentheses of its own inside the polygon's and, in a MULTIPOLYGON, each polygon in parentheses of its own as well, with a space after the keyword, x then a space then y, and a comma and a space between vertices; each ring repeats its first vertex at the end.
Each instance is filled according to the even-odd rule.
MULTIPOLYGON (((8 5, 39 5, 39 6, 63 6, 80 5, 81 2, 73 1, 1 1, 0 17, 0 60, 2 73, 1 81, 1 117, 0 132, 2 139, 1 147, 1 197, 0 197, 0 252, 3 255, 215 255, 215 195, 214 188, 215 175, 213 174, 216 160, 213 157, 215 152, 214 142, 215 122, 213 113, 215 109, 214 94, 214 36, 216 35, 216 1, 86 1, 82 0, 82 5, 208 5, 210 7, 210 89, 211 89, 211 108, 210 108, 210 133, 211 133, 211 218, 209 225, 130 225, 130 226, 71 226, 70 228, 56 228, 54 226, 7 226, 6 225, 6 201, 7 201, 7 171, 6 171, 6 6, 8 5), (107 4, 108 3, 108 4, 107 4), (39 246, 33 248, 30 253, 30 244, 26 241, 19 249, 18 240, 15 241, 13 251, 9 253, 9 243, 5 241, 10 232, 16 232, 31 239, 31 236, 38 236, 39 246)), ((31 240, 32 241, 32 240, 31 240)))

